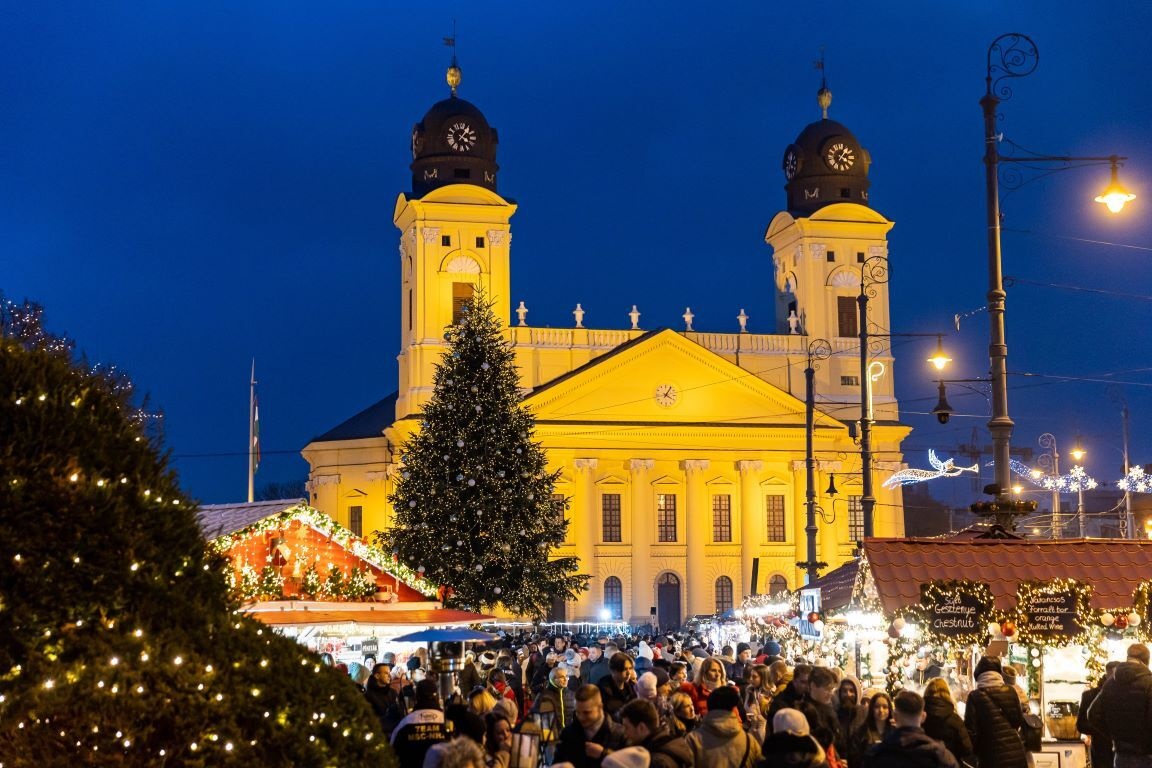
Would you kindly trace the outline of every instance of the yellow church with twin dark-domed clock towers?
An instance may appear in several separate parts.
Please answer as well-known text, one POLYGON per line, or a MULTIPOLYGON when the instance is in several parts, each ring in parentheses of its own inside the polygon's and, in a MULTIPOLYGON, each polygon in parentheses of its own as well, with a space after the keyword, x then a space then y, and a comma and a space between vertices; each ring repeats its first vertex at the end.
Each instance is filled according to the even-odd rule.
MULTIPOLYGON (((893 222, 867 199, 870 157, 851 131, 824 117, 787 147, 787 207, 767 225, 775 284, 764 286, 761 317, 776 333, 585 328, 529 325, 525 302, 509 292, 516 205, 497 190, 498 135, 456 96, 437 102, 412 130, 412 188, 396 200, 402 272, 401 348, 395 393, 313 439, 312 505, 370 534, 392 519, 401 447, 432 395, 444 328, 483 288, 507 318, 524 403, 536 438, 560 470, 569 526, 558 556, 591 575, 579 600, 552 618, 679 626, 694 615, 738 606, 750 593, 804 583, 805 378, 809 344, 827 340, 816 363, 818 560, 835 568, 863 538, 859 448, 861 265, 887 257, 893 222), (840 493, 826 494, 832 474, 840 493)), ((559 225, 560 222, 558 222, 559 225)), ((887 284, 876 284, 871 327, 888 328, 887 284)), ((634 307, 635 309, 635 307, 634 307)), ((892 356, 873 385, 876 535, 903 534, 900 491, 880 481, 902 465, 892 356)))

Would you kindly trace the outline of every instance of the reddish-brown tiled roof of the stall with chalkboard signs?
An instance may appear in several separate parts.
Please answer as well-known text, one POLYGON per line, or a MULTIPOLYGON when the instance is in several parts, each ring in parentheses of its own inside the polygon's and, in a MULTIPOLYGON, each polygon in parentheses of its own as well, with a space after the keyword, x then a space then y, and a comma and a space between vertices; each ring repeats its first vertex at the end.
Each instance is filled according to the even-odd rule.
POLYGON ((945 579, 984 581, 995 607, 1016 604, 1022 581, 1070 578, 1092 585, 1093 608, 1132 604, 1152 579, 1152 541, 1108 539, 867 539, 864 553, 886 611, 920 601, 920 585, 945 579))

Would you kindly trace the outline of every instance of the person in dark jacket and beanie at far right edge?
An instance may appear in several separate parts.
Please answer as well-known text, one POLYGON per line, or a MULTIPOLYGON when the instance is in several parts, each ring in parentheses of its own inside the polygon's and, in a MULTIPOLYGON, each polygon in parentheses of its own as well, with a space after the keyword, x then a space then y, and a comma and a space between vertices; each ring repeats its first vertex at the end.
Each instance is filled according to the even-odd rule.
POLYGON ((1146 645, 1128 646, 1128 660, 1105 680, 1087 710, 1087 722, 1112 737, 1115 768, 1152 766, 1152 672, 1146 645))

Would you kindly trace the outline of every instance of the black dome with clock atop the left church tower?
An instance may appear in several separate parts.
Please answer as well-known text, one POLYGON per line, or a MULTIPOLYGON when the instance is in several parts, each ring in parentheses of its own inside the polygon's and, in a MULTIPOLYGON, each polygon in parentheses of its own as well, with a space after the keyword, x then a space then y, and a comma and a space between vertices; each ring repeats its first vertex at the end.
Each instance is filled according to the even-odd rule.
POLYGON ((412 128, 412 196, 448 184, 475 184, 497 191, 497 129, 476 105, 456 96, 461 71, 448 68, 452 96, 437 101, 412 128))

